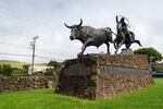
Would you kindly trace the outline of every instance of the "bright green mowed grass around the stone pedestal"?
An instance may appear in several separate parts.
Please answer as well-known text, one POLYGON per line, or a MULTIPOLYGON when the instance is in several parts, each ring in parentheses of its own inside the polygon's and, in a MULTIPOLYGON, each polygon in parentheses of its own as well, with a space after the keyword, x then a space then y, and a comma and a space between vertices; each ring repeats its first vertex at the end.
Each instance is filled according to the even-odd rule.
POLYGON ((84 100, 32 89, 0 94, 0 109, 163 109, 163 78, 137 92, 104 100, 84 100))

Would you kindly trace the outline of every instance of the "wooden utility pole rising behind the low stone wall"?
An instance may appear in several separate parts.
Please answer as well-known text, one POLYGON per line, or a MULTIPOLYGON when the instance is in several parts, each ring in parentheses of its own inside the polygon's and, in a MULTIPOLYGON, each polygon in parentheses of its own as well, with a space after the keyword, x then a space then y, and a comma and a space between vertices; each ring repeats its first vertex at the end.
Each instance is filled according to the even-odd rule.
POLYGON ((32 60, 32 74, 34 73, 34 63, 35 63, 35 46, 36 46, 36 39, 38 36, 33 38, 33 41, 30 43, 30 48, 33 50, 33 60, 32 60))

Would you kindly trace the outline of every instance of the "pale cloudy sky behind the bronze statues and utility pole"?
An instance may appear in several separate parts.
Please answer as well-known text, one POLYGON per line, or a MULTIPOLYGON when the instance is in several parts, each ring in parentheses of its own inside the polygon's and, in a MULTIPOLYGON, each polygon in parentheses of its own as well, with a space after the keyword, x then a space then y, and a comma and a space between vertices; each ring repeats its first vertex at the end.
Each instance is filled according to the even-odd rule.
MULTIPOLYGON (((37 63, 76 58, 82 43, 70 40, 71 31, 64 23, 78 24, 83 19, 83 25, 111 27, 116 32, 116 15, 129 20, 136 39, 143 47, 153 47, 163 53, 162 4, 162 0, 0 0, 0 60, 30 62, 30 41, 36 36, 39 36, 37 63)), ((138 48, 131 45, 133 50, 138 48)), ((114 51, 111 44, 112 55, 114 51)), ((88 47, 85 51, 99 52, 106 52, 105 45, 99 49, 88 47)))

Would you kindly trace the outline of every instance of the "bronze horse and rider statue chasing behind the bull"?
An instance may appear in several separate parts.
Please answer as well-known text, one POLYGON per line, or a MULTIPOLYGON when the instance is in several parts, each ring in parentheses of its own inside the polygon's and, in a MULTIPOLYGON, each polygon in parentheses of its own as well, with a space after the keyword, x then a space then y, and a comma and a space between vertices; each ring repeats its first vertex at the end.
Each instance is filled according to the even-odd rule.
POLYGON ((123 44, 125 44, 126 48, 129 48, 133 43, 137 43, 139 46, 141 46, 140 41, 135 39, 135 34, 128 29, 129 25, 125 22, 127 19, 122 16, 118 21, 118 16, 116 16, 117 34, 116 38, 114 39, 114 47, 116 49, 115 55, 123 44))

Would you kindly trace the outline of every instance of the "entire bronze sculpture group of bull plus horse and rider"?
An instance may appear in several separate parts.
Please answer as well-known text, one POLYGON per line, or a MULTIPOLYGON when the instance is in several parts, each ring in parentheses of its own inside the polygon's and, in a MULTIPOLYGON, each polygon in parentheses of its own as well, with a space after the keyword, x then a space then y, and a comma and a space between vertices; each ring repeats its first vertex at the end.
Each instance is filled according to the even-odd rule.
MULTIPOLYGON (((71 28, 71 40, 78 39, 83 43, 82 51, 78 56, 82 56, 87 47, 96 46, 99 48, 102 44, 105 44, 108 47, 108 53, 110 53, 110 43, 114 43, 115 55, 123 44, 125 44, 126 48, 129 48, 133 43, 137 43, 141 46, 140 41, 135 39, 134 32, 129 31, 129 24, 125 21, 128 21, 126 17, 116 16, 116 31, 117 34, 114 34, 110 27, 103 28, 93 28, 91 26, 82 26, 83 20, 80 19, 80 23, 77 25, 68 26, 64 23, 67 28, 71 28), (112 34, 116 36, 116 38, 112 39, 112 34)), ((128 22, 129 23, 129 22, 128 22)))

